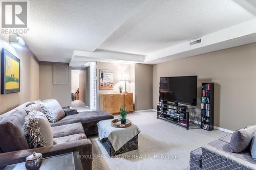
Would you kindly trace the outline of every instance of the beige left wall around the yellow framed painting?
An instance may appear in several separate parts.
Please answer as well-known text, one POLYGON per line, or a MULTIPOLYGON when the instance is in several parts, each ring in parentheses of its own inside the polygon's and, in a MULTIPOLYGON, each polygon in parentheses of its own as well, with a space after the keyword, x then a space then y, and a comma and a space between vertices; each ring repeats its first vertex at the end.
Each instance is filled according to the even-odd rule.
POLYGON ((2 47, 20 59, 20 92, 0 94, 0 114, 39 98, 39 62, 34 54, 27 46, 13 48, 8 36, 0 36, 0 49, 2 47))

